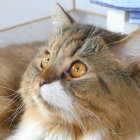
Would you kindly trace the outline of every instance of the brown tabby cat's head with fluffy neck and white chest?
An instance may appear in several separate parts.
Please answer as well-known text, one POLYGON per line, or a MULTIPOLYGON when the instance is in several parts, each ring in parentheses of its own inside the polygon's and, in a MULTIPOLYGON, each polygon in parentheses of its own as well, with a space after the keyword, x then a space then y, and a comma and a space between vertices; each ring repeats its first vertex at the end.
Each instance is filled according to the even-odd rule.
POLYGON ((140 30, 114 34, 57 9, 58 30, 23 74, 24 112, 6 140, 139 140, 140 30))

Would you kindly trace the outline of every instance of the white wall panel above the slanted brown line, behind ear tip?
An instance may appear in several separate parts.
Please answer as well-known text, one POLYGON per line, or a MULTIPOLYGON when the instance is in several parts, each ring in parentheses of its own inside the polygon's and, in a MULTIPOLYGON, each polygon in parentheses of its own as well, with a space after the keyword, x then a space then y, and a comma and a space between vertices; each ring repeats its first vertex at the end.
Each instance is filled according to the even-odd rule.
POLYGON ((72 0, 0 0, 0 30, 50 16, 56 2, 73 9, 72 0))

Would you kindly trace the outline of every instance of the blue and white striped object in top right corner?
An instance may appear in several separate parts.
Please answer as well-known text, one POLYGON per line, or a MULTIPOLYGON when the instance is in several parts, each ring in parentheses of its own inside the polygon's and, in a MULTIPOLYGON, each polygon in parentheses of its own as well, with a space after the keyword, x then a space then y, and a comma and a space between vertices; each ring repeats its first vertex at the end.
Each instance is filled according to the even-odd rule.
POLYGON ((129 12, 129 22, 140 24, 140 0, 90 0, 102 6, 125 10, 129 12))

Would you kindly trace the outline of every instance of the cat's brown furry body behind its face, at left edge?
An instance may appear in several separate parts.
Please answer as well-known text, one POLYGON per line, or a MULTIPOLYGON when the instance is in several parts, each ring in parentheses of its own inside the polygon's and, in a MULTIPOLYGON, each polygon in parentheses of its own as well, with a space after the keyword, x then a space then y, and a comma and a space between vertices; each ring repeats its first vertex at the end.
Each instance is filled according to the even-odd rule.
POLYGON ((27 65, 43 44, 36 42, 0 48, 0 139, 11 133, 13 125, 10 128, 10 124, 15 109, 20 105, 19 93, 16 91, 27 65))

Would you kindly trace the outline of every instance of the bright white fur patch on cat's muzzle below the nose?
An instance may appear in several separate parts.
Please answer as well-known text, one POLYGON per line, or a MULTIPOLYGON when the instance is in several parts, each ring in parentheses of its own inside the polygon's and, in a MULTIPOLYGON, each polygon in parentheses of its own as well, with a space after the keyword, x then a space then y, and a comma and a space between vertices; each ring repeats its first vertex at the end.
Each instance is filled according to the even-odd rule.
POLYGON ((64 91, 60 81, 45 84, 41 87, 40 94, 50 105, 68 112, 72 111, 72 99, 64 91))

